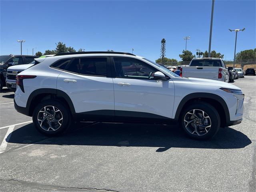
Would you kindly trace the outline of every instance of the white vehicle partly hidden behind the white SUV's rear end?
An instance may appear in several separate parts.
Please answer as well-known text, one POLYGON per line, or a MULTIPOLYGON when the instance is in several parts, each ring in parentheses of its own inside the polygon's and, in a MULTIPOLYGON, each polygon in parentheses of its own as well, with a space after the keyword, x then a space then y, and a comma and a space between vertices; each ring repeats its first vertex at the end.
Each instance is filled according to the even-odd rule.
MULTIPOLYGON (((51 57, 51 56, 54 56, 54 55, 43 55, 40 58, 51 57)), ((6 73, 6 87, 15 92, 15 90, 16 90, 16 75, 19 74, 20 72, 32 67, 34 64, 35 64, 35 61, 33 58, 33 61, 30 64, 15 65, 15 66, 8 67, 7 73, 6 73)))

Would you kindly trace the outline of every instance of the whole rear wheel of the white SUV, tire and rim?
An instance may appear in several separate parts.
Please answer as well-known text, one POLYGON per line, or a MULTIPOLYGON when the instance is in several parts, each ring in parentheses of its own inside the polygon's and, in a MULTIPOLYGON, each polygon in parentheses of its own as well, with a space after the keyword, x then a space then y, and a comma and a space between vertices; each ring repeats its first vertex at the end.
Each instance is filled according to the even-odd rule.
POLYGON ((36 129, 46 136, 57 136, 69 128, 71 122, 67 107, 57 100, 46 100, 38 104, 33 112, 36 129))

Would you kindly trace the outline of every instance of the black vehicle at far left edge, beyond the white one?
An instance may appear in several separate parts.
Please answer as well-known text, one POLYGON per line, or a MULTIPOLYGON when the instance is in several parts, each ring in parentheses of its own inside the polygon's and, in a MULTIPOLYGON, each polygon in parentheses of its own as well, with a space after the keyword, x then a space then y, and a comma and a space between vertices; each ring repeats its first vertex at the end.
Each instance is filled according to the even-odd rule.
POLYGON ((5 84, 6 70, 8 67, 13 65, 22 65, 31 63, 37 56, 32 55, 1 55, 0 56, 0 90, 5 84))

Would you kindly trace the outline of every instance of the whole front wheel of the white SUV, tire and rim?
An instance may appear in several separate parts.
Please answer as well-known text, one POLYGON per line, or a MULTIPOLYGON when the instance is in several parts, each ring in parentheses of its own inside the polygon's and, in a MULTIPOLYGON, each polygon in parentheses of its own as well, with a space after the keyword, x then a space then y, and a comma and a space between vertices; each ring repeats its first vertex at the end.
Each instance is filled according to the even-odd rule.
POLYGON ((212 138, 220 128, 217 110, 206 102, 197 102, 186 107, 180 121, 186 135, 198 140, 212 138))

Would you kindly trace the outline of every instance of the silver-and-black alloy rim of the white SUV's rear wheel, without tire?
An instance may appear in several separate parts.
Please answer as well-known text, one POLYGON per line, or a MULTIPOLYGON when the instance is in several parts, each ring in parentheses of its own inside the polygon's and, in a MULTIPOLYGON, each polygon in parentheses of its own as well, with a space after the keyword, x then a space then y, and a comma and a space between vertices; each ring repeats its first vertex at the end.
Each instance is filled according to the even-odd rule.
POLYGON ((38 124, 46 131, 56 131, 63 122, 61 111, 55 106, 44 106, 37 115, 38 124))

